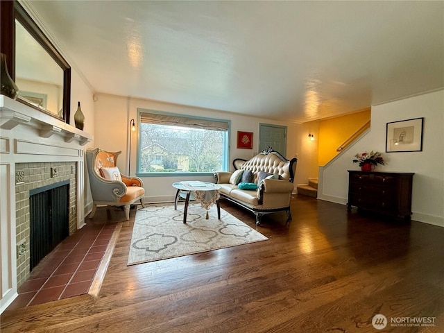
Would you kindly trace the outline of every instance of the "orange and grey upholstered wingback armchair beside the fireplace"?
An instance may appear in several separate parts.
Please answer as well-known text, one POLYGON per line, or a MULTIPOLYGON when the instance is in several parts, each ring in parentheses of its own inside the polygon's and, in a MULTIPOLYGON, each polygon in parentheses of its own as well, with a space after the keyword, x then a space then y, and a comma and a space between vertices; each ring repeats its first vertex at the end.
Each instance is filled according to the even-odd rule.
POLYGON ((89 219, 96 213, 97 205, 123 206, 126 221, 130 219, 130 205, 140 200, 144 207, 144 184, 140 178, 120 173, 116 167, 120 153, 110 153, 100 148, 87 149, 86 162, 93 200, 89 219))

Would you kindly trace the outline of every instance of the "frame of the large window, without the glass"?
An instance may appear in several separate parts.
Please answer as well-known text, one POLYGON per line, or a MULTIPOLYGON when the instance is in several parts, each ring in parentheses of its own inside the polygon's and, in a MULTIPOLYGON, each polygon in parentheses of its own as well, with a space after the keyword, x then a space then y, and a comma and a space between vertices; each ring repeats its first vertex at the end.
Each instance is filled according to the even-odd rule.
POLYGON ((151 114, 161 114, 161 115, 167 115, 167 116, 173 116, 173 117, 182 117, 182 118, 189 118, 189 119, 200 119, 200 120, 206 120, 206 121, 223 121, 225 123, 228 123, 228 130, 223 131, 225 133, 225 152, 223 153, 223 166, 222 170, 217 171, 228 171, 229 170, 229 161, 230 161, 230 137, 231 137, 231 121, 229 119, 219 119, 219 118, 210 118, 210 117, 199 117, 199 116, 191 116, 189 114, 180 114, 180 113, 173 113, 173 112, 163 112, 158 110, 152 110, 152 109, 146 109, 146 108, 137 108, 137 162, 136 162, 136 176, 137 177, 196 177, 196 176, 213 176, 213 172, 141 172, 141 157, 142 152, 140 139, 141 139, 141 129, 142 129, 142 121, 141 115, 143 113, 151 113, 151 114))

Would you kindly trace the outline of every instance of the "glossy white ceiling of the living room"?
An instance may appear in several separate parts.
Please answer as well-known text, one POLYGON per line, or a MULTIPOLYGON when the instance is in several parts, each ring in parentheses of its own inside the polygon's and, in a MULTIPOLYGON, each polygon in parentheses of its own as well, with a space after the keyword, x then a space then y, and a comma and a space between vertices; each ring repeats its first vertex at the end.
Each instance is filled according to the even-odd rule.
POLYGON ((444 87, 443 1, 25 7, 94 92, 305 122, 444 87))

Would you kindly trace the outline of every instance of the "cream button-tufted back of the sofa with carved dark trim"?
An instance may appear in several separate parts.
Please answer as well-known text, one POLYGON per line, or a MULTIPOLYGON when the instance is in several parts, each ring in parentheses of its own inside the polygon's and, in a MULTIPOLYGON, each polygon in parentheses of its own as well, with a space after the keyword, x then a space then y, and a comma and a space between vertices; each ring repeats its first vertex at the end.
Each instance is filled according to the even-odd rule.
POLYGON ((257 182, 259 171, 278 173, 280 179, 293 182, 297 162, 296 158, 287 160, 280 153, 272 151, 271 153, 259 153, 248 161, 236 159, 233 164, 235 169, 251 170, 255 182, 257 182))

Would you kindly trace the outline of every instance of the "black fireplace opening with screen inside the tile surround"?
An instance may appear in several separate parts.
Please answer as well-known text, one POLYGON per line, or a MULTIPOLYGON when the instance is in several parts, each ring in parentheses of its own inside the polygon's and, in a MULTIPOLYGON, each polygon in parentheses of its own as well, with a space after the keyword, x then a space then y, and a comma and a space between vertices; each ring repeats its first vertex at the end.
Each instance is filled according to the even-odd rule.
POLYGON ((69 236, 69 180, 29 191, 30 271, 69 236))

